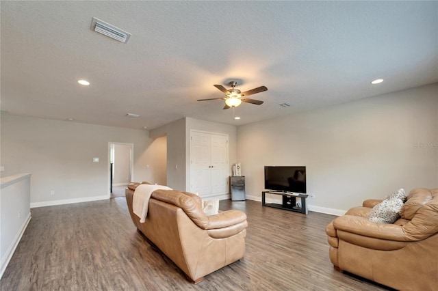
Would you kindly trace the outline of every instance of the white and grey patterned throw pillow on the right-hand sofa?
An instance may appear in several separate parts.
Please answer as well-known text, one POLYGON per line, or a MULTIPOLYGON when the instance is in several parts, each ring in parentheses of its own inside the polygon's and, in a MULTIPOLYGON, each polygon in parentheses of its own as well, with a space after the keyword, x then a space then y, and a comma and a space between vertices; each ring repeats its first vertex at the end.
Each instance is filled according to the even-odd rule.
POLYGON ((377 223, 394 223, 400 218, 400 210, 406 200, 406 194, 400 189, 390 195, 387 195, 383 202, 376 204, 371 211, 370 221, 377 223))

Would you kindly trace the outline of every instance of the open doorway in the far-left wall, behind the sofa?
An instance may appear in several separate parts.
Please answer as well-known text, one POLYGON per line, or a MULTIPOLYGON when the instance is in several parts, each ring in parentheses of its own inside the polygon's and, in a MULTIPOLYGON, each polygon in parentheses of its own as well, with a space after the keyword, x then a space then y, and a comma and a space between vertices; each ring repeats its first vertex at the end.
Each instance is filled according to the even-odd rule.
POLYGON ((133 144, 109 143, 108 154, 110 197, 125 196, 125 188, 133 177, 133 144))

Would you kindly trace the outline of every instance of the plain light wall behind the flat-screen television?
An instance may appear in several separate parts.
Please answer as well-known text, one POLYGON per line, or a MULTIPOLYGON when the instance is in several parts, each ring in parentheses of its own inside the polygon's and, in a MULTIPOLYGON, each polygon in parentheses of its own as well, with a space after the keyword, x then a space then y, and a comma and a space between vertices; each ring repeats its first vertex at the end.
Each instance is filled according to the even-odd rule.
POLYGON ((308 203, 321 212, 438 187, 437 116, 434 84, 239 126, 246 193, 261 199, 264 165, 307 166, 308 203))

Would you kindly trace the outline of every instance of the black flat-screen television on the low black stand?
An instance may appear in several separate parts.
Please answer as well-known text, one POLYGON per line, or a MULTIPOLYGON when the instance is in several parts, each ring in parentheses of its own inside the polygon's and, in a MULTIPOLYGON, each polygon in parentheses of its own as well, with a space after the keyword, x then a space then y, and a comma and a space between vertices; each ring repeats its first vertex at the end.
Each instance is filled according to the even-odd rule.
POLYGON ((306 167, 265 166, 265 189, 306 193, 306 167))

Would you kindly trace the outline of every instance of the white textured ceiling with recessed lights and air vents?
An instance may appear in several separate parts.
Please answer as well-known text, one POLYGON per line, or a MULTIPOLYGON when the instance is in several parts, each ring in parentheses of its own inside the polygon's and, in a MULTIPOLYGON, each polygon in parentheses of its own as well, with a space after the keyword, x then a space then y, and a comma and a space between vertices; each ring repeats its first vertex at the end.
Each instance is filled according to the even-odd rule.
POLYGON ((127 128, 182 117, 240 125, 438 81, 437 1, 0 5, 1 110, 11 114, 127 128), (92 17, 131 38, 92 31, 92 17), (231 80, 242 91, 266 85, 250 97, 264 104, 233 113, 223 100, 196 102, 222 97, 213 85, 231 80))

